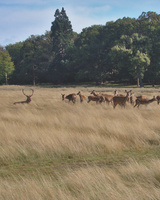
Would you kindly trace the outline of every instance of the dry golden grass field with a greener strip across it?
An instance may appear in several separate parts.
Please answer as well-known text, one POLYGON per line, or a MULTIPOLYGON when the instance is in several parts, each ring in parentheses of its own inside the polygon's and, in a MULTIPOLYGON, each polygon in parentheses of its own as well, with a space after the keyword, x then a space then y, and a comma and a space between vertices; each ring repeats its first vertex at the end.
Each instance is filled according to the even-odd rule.
POLYGON ((79 90, 113 94, 111 87, 34 87, 30 104, 13 105, 26 99, 22 88, 31 92, 0 86, 0 199, 160 199, 160 105, 113 109, 61 99, 79 90))

